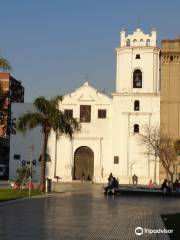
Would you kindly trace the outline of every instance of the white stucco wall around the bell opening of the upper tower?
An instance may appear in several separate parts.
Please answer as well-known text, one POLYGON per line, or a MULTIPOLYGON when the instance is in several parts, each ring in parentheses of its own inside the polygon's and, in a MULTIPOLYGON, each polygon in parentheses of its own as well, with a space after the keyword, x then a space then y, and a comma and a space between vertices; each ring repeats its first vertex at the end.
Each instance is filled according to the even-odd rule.
MULTIPOLYGON (((121 33, 122 34, 122 33, 121 33)), ((146 34, 137 29, 131 38, 146 40, 146 34), (140 34, 140 36, 139 36, 140 34)), ((130 38, 129 35, 127 38, 130 38)), ((149 38, 151 39, 151 38, 149 38)), ((159 92, 159 49, 156 47, 156 35, 150 46, 120 44, 116 49, 116 92, 117 93, 158 93, 159 92), (140 59, 136 59, 136 55, 140 59), (133 88, 133 72, 142 71, 142 88, 133 88)))

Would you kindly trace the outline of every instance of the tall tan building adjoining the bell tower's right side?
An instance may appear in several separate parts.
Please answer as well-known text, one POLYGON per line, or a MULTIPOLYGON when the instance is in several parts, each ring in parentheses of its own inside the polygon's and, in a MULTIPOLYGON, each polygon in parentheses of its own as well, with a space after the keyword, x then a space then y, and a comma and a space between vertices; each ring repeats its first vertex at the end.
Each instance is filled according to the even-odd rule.
MULTIPOLYGON (((180 139, 180 38, 161 41, 161 127, 173 140, 180 139)), ((178 176, 180 167, 177 166, 178 176)), ((164 168, 160 175, 165 178, 164 168)), ((180 176, 179 176, 180 177, 180 176)))

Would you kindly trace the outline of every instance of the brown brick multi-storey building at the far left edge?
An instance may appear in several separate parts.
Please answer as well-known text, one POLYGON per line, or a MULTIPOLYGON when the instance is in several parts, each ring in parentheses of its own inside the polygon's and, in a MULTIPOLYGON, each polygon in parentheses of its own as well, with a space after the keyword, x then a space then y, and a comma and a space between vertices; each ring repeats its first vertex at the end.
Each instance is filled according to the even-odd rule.
POLYGON ((0 123, 0 178, 8 178, 9 169, 9 124, 11 123, 11 104, 24 102, 24 87, 10 73, 0 73, 0 89, 6 94, 7 116, 0 123), (3 173, 2 173, 3 172, 3 173))

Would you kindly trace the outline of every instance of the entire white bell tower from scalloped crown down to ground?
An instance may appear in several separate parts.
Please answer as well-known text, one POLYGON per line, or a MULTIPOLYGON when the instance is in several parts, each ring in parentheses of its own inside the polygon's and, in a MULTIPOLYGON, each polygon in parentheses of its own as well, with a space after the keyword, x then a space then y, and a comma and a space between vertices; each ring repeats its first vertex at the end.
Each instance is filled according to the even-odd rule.
MULTIPOLYGON (((144 154, 139 134, 145 126, 159 126, 159 48, 156 31, 120 33, 116 49, 116 92, 113 94, 113 155, 119 156, 121 182, 131 183, 133 174, 147 184, 158 181, 158 164, 144 154), (156 169, 156 170, 155 170, 156 169)), ((114 167, 113 171, 116 171, 114 167)))

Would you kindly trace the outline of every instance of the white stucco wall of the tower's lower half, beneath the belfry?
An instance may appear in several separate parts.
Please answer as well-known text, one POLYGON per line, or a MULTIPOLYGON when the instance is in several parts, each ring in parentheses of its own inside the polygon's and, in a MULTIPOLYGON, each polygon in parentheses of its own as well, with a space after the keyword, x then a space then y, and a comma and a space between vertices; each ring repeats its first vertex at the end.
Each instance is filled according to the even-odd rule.
MULTIPOLYGON (((128 95, 114 94, 113 118, 113 155, 119 155, 119 178, 124 183, 130 183, 133 174, 139 177, 139 182, 147 184, 153 180, 154 165, 144 154, 145 149, 140 144, 139 134, 134 134, 134 124, 139 125, 140 132, 145 126, 159 125, 160 100, 159 95, 128 95), (139 100, 140 111, 134 111, 134 101, 139 100), (153 169, 152 169, 153 168, 153 169), (150 174, 151 173, 151 174, 150 174)), ((158 169, 157 169, 158 178, 158 169)))

